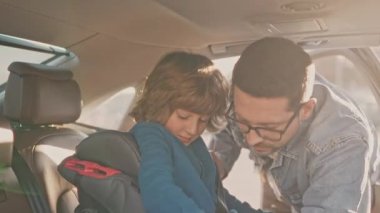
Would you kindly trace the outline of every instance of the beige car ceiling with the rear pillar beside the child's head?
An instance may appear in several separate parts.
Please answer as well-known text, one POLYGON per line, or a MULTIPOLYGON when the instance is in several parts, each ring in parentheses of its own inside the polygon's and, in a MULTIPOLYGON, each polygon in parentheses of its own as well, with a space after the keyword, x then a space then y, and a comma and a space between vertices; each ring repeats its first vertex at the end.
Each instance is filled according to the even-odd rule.
POLYGON ((75 78, 85 103, 137 84, 172 50, 235 56, 263 36, 288 37, 310 49, 380 42, 378 0, 3 0, 0 5, 2 33, 78 55, 75 78))

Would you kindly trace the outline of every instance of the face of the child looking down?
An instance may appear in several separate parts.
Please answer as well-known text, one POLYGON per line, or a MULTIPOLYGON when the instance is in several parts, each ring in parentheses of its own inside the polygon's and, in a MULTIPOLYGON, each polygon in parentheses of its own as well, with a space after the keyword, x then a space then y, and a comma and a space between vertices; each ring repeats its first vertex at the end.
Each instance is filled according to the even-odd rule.
POLYGON ((176 109, 165 123, 165 127, 185 145, 191 144, 206 129, 208 115, 200 115, 184 109, 176 109))

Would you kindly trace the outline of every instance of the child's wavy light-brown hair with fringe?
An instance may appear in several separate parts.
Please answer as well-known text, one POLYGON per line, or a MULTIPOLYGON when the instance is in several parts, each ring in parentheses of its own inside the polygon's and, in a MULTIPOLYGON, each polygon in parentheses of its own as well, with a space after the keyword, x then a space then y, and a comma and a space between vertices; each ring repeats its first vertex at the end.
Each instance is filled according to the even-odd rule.
POLYGON ((146 79, 141 99, 130 115, 136 121, 165 124, 181 108, 210 115, 207 129, 223 123, 227 108, 228 83, 205 56, 172 52, 165 55, 146 79))

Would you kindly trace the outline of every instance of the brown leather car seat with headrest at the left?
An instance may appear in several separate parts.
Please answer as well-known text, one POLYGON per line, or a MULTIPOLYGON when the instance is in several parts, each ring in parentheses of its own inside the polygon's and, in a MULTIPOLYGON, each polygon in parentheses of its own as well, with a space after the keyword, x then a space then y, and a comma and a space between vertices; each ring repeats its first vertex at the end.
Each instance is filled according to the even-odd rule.
POLYGON ((62 126, 80 115, 79 86, 69 70, 23 62, 8 69, 4 115, 12 122, 14 147, 41 185, 50 211, 73 212, 75 188, 59 175, 57 165, 87 136, 62 126))

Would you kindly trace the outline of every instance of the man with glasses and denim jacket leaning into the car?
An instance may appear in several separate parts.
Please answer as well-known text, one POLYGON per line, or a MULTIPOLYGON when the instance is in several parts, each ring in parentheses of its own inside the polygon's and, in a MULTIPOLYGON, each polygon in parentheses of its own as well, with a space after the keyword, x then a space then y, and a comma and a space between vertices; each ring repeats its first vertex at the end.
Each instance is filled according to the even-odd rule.
POLYGON ((222 177, 247 148, 292 212, 370 212, 376 134, 350 98, 315 75, 301 47, 284 38, 254 42, 231 89, 228 126, 210 144, 222 177))

